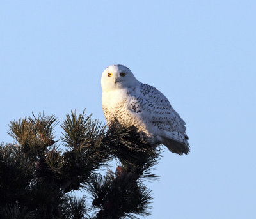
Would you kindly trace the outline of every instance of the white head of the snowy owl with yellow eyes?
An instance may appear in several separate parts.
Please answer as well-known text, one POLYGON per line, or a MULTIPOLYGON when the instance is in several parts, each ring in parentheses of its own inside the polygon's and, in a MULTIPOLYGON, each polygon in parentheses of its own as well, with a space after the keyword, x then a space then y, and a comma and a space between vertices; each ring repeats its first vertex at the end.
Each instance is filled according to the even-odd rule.
POLYGON ((108 66, 101 76, 102 91, 134 87, 139 83, 131 70, 121 64, 108 66))

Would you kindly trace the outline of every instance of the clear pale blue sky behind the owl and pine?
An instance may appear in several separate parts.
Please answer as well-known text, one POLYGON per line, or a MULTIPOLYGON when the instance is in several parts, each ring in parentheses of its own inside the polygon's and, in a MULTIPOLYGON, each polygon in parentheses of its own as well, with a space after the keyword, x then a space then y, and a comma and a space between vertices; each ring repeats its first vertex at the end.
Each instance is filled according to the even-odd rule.
POLYGON ((31 112, 104 121, 101 73, 124 64, 168 97, 191 144, 163 153, 148 218, 256 218, 255 11, 254 0, 1 1, 0 141, 31 112))

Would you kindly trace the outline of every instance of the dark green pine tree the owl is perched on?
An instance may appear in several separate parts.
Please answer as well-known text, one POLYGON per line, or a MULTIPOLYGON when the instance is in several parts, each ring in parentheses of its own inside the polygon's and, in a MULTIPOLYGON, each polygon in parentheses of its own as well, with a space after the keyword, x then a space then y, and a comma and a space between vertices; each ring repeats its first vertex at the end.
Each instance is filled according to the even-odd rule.
POLYGON ((143 180, 161 150, 140 139, 132 127, 108 128, 85 112, 62 121, 54 141, 55 116, 39 114, 10 123, 15 139, 0 146, 0 218, 136 218, 150 214, 152 196, 143 180), (61 149, 65 148, 65 149, 61 149), (118 167, 109 167, 115 159, 118 167), (102 172, 102 171, 101 171, 102 172), (80 199, 72 195, 83 190, 80 199), (88 204, 88 198, 92 204, 88 204))

